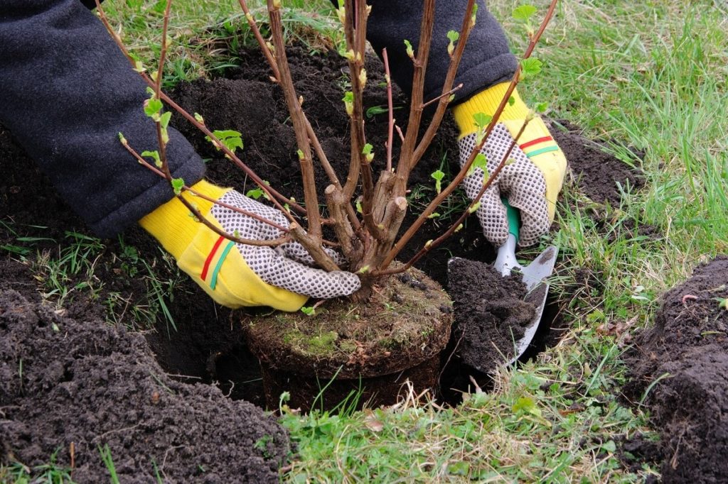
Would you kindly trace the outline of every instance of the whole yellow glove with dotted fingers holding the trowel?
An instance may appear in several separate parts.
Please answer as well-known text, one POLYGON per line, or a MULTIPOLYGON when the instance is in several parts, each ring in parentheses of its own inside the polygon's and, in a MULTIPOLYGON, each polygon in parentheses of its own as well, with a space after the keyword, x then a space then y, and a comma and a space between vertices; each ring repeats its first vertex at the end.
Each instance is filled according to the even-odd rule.
MULTIPOLYGON (((464 164, 475 148, 478 127, 473 115, 484 113, 493 116, 508 88, 507 82, 485 89, 453 109, 455 121, 460 129, 460 163, 464 164)), ((513 92, 513 105, 506 105, 499 118, 499 124, 491 132, 483 153, 488 158, 488 171, 492 172, 501 161, 505 151, 523 126, 529 109, 517 91, 513 92)), ((561 192, 566 174, 566 157, 551 137, 543 120, 534 118, 521 134, 518 145, 513 149, 513 164, 505 166, 491 187, 488 187, 478 209, 478 219, 488 241, 501 246, 508 237, 506 208, 501 201, 505 195, 508 202, 521 211, 521 246, 529 246, 547 233, 553 222, 556 198, 561 192)), ((483 184, 483 172, 476 169, 464 180, 465 191, 474 198, 483 184)))

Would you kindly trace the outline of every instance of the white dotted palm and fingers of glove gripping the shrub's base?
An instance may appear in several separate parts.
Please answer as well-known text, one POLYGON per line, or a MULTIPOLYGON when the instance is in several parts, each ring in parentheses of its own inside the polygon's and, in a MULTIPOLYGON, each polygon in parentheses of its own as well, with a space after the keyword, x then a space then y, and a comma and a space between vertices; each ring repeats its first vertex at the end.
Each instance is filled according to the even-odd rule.
MULTIPOLYGON (((288 227, 288 219, 277 209, 266 206, 251 198, 230 190, 220 201, 240 209, 250 211, 264 219, 288 227)), ((237 211, 215 204, 210 214, 220 223, 227 233, 238 234, 240 238, 256 241, 272 241, 281 237, 282 232, 272 225, 240 214, 237 211)), ((311 267, 314 261, 300 243, 284 243, 277 247, 250 246, 237 243, 245 263, 261 280, 297 294, 328 299, 346 296, 360 288, 359 278, 344 271, 325 272, 311 267)), ((325 249, 337 265, 344 260, 331 249, 325 249)))

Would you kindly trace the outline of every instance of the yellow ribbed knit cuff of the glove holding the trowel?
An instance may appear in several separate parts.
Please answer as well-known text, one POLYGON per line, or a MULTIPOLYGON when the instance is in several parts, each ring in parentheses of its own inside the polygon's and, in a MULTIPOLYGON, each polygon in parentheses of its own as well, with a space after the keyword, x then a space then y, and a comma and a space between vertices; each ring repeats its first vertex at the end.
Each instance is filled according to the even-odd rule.
MULTIPOLYGON (((453 108, 453 116, 460 129, 460 137, 478 131, 478 127, 475 126, 475 121, 472 118, 475 113, 483 113, 488 116, 495 114, 509 85, 510 82, 502 82, 501 84, 488 87, 488 89, 478 92, 475 96, 470 97, 469 100, 453 108)), ((506 104, 500 119, 525 119, 529 113, 529 108, 521 100, 521 96, 518 95, 518 89, 514 90, 512 95, 515 102, 513 102, 513 105, 506 104)))

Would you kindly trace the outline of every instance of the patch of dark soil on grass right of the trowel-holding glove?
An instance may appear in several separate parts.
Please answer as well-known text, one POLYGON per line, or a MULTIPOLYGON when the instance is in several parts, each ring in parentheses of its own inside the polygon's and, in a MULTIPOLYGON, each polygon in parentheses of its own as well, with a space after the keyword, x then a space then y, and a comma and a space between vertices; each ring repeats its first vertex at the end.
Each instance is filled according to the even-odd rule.
MULTIPOLYGON (((551 126, 551 134, 569 160, 569 169, 577 179, 579 188, 597 203, 619 206, 623 190, 638 190, 644 186, 644 177, 636 169, 601 149, 604 141, 587 140, 581 129, 569 121, 559 120, 566 132, 551 126)), ((639 158, 643 153, 636 153, 639 158)))

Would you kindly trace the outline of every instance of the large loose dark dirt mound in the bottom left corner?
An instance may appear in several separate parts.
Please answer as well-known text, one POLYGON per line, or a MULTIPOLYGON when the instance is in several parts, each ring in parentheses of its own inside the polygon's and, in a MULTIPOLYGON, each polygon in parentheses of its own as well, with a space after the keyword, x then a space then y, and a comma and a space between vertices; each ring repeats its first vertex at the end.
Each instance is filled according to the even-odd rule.
POLYGON ((0 461, 37 465, 57 449, 74 480, 101 483, 108 445, 124 483, 277 482, 288 437, 250 403, 159 367, 140 334, 61 318, 0 292, 0 461))

